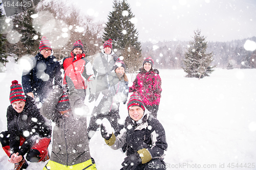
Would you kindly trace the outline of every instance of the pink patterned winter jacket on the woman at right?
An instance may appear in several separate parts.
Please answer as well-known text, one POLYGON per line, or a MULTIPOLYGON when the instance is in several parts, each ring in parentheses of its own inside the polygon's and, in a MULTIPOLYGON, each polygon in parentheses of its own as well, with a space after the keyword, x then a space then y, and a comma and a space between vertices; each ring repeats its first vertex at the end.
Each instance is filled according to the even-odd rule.
POLYGON ((162 92, 160 76, 154 71, 140 71, 129 89, 129 92, 134 91, 140 95, 144 105, 159 105, 162 92))

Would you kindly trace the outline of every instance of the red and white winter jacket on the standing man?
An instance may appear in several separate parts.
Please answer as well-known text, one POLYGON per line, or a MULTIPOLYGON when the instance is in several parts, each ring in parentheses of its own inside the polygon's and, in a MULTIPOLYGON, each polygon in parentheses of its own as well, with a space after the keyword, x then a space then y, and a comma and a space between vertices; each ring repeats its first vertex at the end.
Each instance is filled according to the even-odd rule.
POLYGON ((94 80, 92 65, 85 54, 76 55, 63 59, 62 67, 65 71, 63 84, 67 84, 67 76, 71 78, 76 89, 87 89, 88 83, 94 80))

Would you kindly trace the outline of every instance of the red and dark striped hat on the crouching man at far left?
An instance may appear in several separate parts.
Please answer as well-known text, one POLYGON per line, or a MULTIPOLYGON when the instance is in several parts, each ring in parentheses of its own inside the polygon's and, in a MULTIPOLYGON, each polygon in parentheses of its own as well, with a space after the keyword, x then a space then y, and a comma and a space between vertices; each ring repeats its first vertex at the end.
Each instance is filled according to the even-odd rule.
POLYGON ((22 89, 22 85, 18 84, 17 80, 12 81, 11 91, 10 91, 10 102, 11 104, 16 101, 26 102, 26 96, 22 89))

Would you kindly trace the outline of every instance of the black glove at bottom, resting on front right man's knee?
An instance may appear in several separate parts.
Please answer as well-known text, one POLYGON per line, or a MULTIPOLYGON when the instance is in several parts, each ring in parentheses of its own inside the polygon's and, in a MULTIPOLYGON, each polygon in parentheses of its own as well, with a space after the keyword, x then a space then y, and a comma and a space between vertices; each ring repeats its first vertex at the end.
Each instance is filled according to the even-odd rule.
POLYGON ((141 163, 141 158, 138 153, 130 155, 124 158, 122 163, 123 169, 126 170, 134 170, 141 163))

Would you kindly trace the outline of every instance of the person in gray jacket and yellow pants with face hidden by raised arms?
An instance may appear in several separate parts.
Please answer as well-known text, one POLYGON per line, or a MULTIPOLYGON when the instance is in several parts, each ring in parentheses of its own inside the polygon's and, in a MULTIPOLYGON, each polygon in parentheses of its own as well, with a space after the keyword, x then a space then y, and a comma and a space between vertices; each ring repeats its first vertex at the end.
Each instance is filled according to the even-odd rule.
POLYGON ((87 116, 81 114, 86 112, 83 106, 74 87, 67 91, 60 86, 54 88, 42 105, 41 114, 55 123, 51 159, 43 170, 96 170, 90 155, 87 116))

